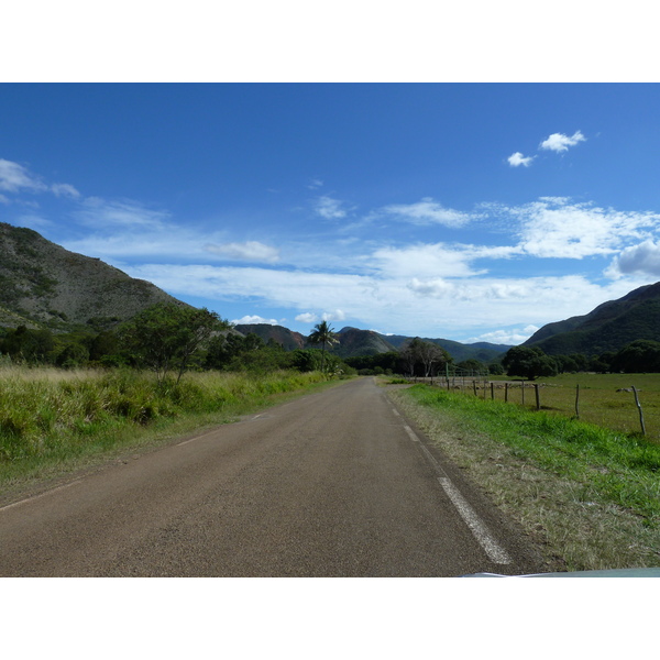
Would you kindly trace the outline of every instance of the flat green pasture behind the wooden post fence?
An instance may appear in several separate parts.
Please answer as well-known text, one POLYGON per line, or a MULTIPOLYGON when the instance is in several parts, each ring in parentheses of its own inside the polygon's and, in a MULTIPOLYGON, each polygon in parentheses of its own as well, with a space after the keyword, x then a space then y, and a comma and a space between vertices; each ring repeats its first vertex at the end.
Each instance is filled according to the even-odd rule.
MULTIPOLYGON (((504 382, 508 381, 508 403, 536 409, 534 383, 512 381, 504 376, 491 377, 494 382, 494 397, 504 400, 504 382), (522 391, 525 384, 525 392, 522 391)), ((625 433, 641 433, 639 409, 632 392, 638 391, 639 404, 644 414, 646 435, 650 440, 660 441, 660 374, 562 374, 551 378, 539 378, 541 409, 553 415, 575 417, 575 398, 579 392, 579 413, 582 421, 625 433)), ((462 392, 474 396, 472 386, 462 392)), ((491 398, 491 389, 479 389, 482 398, 491 398)))

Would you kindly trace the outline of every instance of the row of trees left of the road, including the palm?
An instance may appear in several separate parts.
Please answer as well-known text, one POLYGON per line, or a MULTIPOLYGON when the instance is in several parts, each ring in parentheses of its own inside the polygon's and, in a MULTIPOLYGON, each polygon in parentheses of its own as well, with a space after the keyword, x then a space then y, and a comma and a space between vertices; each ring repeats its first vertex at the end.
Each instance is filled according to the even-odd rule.
POLYGON ((321 349, 286 351, 274 340, 232 331, 229 321, 206 308, 157 304, 113 329, 100 329, 107 321, 92 319, 68 333, 25 326, 0 329, 0 363, 148 369, 158 382, 168 375, 178 382, 188 370, 354 373, 327 351, 334 338, 326 322, 309 337, 321 349))

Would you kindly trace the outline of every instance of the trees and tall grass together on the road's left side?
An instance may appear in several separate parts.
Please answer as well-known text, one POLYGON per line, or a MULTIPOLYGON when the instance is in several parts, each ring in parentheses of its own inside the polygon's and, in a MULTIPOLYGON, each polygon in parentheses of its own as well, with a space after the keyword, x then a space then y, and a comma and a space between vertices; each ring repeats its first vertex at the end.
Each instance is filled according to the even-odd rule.
POLYGON ((222 424, 355 373, 327 353, 330 341, 285 351, 233 332, 207 309, 175 304, 96 334, 6 330, 0 484, 222 424))

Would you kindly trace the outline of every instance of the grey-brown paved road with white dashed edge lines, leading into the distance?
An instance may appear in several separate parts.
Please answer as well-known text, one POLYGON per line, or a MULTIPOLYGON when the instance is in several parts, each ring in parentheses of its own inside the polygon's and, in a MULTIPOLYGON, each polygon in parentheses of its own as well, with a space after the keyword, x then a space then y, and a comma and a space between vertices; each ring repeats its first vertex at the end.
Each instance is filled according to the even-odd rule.
POLYGON ((1 576, 539 570, 371 378, 0 508, 1 576))

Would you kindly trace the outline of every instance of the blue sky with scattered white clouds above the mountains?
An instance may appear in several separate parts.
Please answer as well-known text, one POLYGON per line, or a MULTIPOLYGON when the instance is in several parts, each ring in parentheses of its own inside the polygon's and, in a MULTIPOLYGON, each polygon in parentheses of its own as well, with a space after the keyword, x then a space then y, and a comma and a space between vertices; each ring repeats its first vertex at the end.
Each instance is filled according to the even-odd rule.
POLYGON ((660 279, 657 84, 0 85, 0 220, 237 322, 519 343, 660 279))

